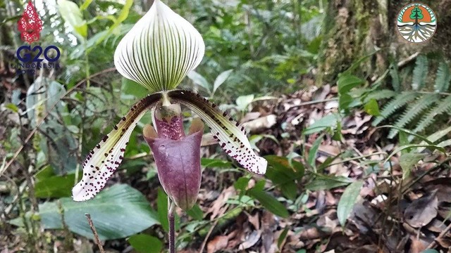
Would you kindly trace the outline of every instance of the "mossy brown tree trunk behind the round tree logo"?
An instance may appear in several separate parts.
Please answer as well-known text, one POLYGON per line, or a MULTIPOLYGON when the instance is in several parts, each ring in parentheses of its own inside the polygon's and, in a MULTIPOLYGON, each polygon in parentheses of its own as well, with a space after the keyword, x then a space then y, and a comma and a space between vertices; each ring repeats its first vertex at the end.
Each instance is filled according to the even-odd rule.
POLYGON ((397 15, 409 3, 395 0, 329 1, 322 27, 317 84, 333 84, 340 72, 364 56, 369 58, 362 61, 353 74, 372 80, 380 77, 390 63, 417 52, 437 51, 450 59, 451 28, 446 22, 449 24, 451 20, 451 0, 422 1, 435 11, 438 29, 433 39, 421 44, 405 41, 397 32, 397 15))

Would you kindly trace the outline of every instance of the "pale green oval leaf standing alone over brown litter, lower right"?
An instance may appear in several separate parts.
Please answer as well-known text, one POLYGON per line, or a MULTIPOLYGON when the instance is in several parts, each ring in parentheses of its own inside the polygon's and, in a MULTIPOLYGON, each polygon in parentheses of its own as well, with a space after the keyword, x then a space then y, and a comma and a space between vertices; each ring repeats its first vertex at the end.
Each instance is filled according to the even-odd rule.
POLYGON ((340 202, 338 202, 337 216, 338 221, 340 221, 341 226, 345 226, 347 217, 350 216, 352 208, 359 197, 360 189, 364 185, 362 181, 355 181, 351 183, 345 189, 345 192, 340 197, 340 202))

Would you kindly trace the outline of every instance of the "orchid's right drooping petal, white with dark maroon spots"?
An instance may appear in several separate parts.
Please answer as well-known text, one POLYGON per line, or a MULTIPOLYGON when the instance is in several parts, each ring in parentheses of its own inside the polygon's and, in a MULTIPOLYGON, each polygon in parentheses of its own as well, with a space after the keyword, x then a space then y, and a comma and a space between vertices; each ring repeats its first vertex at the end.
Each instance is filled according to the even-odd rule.
POLYGON ((191 91, 168 91, 168 96, 196 112, 210 126, 221 148, 242 167, 257 174, 266 172, 268 162, 254 153, 247 140, 245 128, 231 117, 226 117, 227 114, 221 112, 214 103, 191 91))

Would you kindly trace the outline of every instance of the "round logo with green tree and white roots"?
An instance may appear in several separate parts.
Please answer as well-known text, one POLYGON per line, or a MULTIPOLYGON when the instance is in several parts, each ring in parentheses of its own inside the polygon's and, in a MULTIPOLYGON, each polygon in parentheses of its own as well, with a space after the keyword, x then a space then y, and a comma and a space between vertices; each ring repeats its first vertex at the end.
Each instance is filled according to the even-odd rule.
POLYGON ((408 4, 397 15, 397 30, 409 42, 427 41, 436 29, 435 13, 426 4, 408 4))

